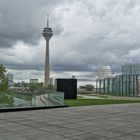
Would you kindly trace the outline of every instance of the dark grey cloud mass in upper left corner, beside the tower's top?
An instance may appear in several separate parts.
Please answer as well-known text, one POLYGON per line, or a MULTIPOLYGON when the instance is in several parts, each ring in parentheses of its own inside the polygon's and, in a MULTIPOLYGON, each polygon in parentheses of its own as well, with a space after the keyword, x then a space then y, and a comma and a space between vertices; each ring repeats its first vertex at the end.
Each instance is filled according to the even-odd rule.
POLYGON ((12 47, 17 41, 36 45, 42 37, 44 15, 56 3, 56 0, 1 0, 0 47, 12 47))

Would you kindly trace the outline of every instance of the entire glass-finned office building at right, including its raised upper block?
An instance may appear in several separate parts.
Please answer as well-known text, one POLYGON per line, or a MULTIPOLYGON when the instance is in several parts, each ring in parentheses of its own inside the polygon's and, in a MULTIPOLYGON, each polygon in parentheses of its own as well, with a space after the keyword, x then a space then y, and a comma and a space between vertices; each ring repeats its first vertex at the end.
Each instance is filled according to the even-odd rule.
POLYGON ((122 66, 122 75, 96 80, 96 92, 123 96, 140 96, 140 65, 122 66))

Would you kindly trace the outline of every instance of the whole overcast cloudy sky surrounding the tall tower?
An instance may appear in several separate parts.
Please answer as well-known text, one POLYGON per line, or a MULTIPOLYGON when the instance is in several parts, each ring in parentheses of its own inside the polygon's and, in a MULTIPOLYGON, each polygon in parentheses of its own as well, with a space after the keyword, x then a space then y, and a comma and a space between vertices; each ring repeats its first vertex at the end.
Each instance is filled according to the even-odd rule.
POLYGON ((140 0, 0 0, 0 63, 15 80, 44 76, 46 13, 51 77, 92 77, 140 60, 140 0))

